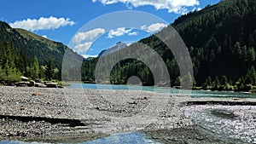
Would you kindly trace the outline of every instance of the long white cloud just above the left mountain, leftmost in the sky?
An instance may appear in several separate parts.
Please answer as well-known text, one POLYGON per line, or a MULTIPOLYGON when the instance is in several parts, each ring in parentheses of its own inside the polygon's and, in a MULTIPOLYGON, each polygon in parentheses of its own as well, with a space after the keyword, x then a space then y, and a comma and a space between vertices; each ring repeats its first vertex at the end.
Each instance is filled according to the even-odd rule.
POLYGON ((61 26, 73 26, 74 22, 70 19, 65 18, 55 18, 50 16, 49 18, 41 17, 37 19, 26 19, 18 20, 14 23, 10 23, 10 26, 14 28, 22 28, 28 31, 37 31, 37 30, 54 30, 61 26))

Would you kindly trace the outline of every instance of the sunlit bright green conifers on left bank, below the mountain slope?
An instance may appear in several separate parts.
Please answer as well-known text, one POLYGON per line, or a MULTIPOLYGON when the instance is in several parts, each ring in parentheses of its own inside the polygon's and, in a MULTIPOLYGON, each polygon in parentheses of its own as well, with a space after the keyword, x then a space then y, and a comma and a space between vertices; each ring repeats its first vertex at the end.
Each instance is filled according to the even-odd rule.
POLYGON ((61 79, 61 72, 54 68, 52 60, 43 66, 38 63, 37 57, 28 57, 19 52, 11 43, 0 41, 0 82, 12 84, 20 81, 21 76, 31 79, 61 79))

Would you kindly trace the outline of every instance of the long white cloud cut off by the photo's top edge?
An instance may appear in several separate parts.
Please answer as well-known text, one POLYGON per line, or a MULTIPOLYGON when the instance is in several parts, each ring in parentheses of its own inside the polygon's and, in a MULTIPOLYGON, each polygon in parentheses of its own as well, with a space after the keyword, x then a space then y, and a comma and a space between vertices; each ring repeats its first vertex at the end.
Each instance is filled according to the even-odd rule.
POLYGON ((199 5, 198 0, 92 0, 92 2, 100 2, 103 4, 125 3, 128 8, 153 6, 155 9, 167 9, 169 13, 183 14, 187 11, 185 7, 199 5))

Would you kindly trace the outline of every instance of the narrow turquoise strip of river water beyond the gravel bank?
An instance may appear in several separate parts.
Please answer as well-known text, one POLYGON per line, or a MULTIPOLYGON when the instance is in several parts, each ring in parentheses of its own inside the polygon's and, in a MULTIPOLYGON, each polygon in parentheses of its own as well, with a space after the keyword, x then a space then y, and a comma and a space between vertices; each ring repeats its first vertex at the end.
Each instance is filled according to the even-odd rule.
POLYGON ((70 89, 127 89, 127 90, 146 90, 158 93, 170 93, 174 95, 190 95, 191 97, 237 97, 237 98, 256 98, 256 94, 242 92, 219 92, 206 90, 182 90, 154 86, 127 86, 111 84, 71 84, 70 89))

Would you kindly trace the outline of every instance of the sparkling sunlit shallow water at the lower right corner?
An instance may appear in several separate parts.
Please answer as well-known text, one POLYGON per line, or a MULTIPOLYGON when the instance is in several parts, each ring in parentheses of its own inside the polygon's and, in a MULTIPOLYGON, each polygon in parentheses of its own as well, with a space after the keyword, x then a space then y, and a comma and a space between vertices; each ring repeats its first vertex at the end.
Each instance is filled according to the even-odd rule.
POLYGON ((256 143, 256 107, 191 106, 185 115, 220 138, 256 143))

